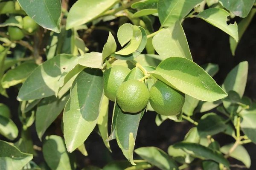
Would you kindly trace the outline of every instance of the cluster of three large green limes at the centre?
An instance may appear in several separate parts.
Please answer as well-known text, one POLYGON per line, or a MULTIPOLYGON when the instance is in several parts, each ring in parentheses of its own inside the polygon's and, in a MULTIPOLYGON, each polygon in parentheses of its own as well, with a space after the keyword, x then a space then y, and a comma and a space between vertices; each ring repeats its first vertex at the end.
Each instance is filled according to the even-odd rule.
POLYGON ((148 100, 157 113, 165 116, 177 115, 185 102, 185 94, 157 80, 148 91, 143 81, 130 79, 124 82, 131 70, 122 65, 114 65, 104 72, 104 92, 111 101, 117 102, 122 111, 137 113, 142 111, 148 100))

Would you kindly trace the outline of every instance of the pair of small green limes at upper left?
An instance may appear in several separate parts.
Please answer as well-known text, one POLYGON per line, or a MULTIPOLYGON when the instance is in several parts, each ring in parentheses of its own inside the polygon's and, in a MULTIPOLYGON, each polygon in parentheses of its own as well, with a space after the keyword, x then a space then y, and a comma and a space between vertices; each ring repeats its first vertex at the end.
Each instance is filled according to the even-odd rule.
POLYGON ((33 35, 38 30, 39 25, 28 15, 23 17, 23 29, 16 26, 9 26, 8 33, 11 40, 21 40, 25 34, 33 35))

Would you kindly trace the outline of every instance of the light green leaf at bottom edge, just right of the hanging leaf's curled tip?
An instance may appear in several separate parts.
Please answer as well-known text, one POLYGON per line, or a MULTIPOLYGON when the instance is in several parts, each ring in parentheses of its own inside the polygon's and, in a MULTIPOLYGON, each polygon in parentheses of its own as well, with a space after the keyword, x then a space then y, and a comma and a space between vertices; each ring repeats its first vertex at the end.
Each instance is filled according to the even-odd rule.
POLYGON ((175 161, 157 147, 140 147, 135 153, 161 170, 178 170, 175 161))

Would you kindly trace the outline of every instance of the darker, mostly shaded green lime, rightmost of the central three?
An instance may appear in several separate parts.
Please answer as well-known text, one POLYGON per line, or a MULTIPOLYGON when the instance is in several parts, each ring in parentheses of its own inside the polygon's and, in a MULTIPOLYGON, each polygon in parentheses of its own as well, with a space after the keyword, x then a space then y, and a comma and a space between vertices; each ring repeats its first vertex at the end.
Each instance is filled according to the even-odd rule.
POLYGON ((149 102, 158 114, 174 116, 181 112, 185 94, 158 80, 150 89, 149 102))

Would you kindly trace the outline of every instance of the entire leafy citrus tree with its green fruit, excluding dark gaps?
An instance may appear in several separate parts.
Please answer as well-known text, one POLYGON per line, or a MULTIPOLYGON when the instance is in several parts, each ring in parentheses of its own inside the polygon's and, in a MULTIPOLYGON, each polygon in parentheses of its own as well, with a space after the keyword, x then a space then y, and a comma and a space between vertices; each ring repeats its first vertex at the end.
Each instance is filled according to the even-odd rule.
POLYGON ((193 40, 187 41, 183 24, 196 17, 221 29, 230 36, 230 52, 235 55, 256 13, 253 4, 254 0, 77 0, 73 5, 61 0, 0 0, 0 95, 17 92, 20 102, 12 109, 0 103, 0 135, 8 141, 0 140, 0 169, 182 170, 197 165, 224 170, 232 167, 229 157, 249 169, 251 159, 243 144, 256 144, 256 102, 244 96, 248 62, 236 65, 219 86, 212 78, 219 71, 217 64, 199 66, 193 61, 193 40), (95 30, 106 37, 96 39, 95 30), (125 74, 113 71, 116 68, 125 74), (172 92, 154 92, 160 83, 172 92), (149 91, 155 100, 151 103, 149 91), (188 121, 194 127, 183 141, 168 147, 168 154, 154 146, 137 148, 140 121, 148 114, 156 115, 157 126, 188 121), (32 131, 42 149, 34 145, 32 131), (102 138, 107 148, 102 155, 106 152, 108 158, 102 167, 82 167, 73 152, 90 156, 94 148, 87 153, 84 142, 90 143, 94 132, 102 138), (232 137, 233 143, 220 147, 215 140, 219 133, 232 137), (115 161, 108 153, 114 139, 127 160, 115 161), (37 165, 38 159, 32 159, 38 152, 44 159, 37 165))

